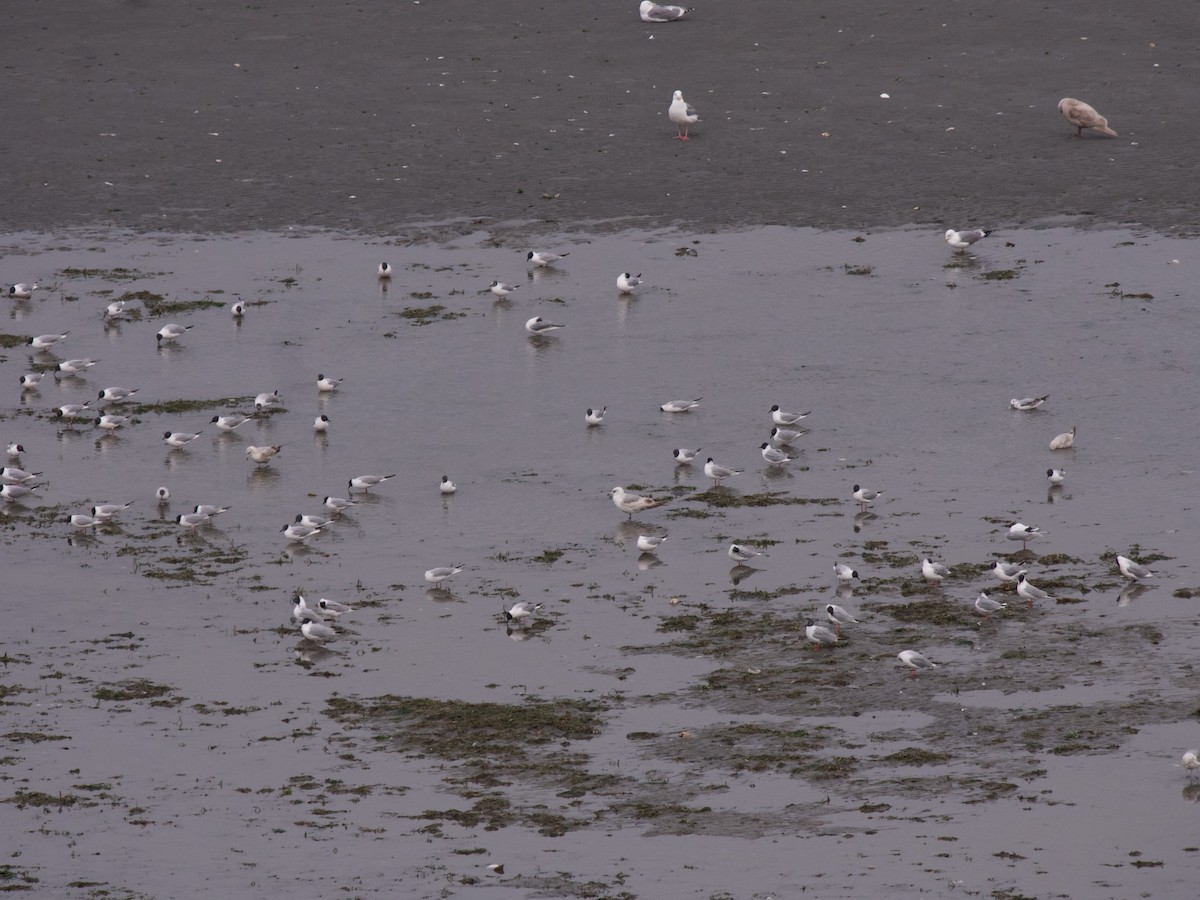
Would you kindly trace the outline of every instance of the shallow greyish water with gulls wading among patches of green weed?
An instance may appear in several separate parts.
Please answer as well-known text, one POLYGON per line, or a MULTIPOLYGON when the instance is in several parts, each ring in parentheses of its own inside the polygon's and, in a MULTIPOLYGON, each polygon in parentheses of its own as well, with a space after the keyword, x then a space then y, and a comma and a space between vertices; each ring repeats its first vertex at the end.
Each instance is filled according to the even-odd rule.
MULTIPOLYGON (((14 599, 4 683, 20 691, 4 700, 0 775, 10 796, 109 785, 91 791, 96 805, 0 805, 16 871, 56 895, 86 881, 168 896, 182 878, 254 895, 571 895, 589 882, 602 884, 592 895, 612 896, 784 896, 798 883, 830 898, 958 887, 1184 895, 1194 810, 1172 763, 1200 743, 1188 706, 1195 600, 1172 595, 1198 587, 1189 242, 1046 228, 992 235, 961 258, 914 230, 571 234, 542 245, 570 251, 559 269, 528 274, 521 241, 504 229, 402 245, 323 233, 8 236, 5 280, 43 288, 7 301, 4 331, 71 335, 56 356, 10 348, 0 366, 6 443, 23 443, 24 467, 49 482, 4 510, 14 599), (386 286, 373 276, 384 258, 397 270, 386 286), (119 268, 142 275, 119 280, 119 268), (637 296, 617 295, 622 270, 646 277, 637 296), (480 293, 492 278, 521 287, 496 302, 480 293), (222 307, 104 328, 104 304, 125 290, 222 307), (224 308, 235 295, 251 301, 241 324, 224 308), (400 316, 433 305, 454 318, 400 316), (532 337, 523 323, 536 314, 565 328, 532 337), (160 348, 154 332, 167 320, 196 328, 160 348), (18 392, 31 361, 76 356, 101 362, 18 392), (344 378, 341 390, 318 396, 318 372, 344 378), (143 402, 278 389, 287 412, 235 436, 209 425, 217 409, 146 414, 113 438, 48 416, 108 385, 140 388, 143 402), (1009 397, 1034 394, 1050 394, 1043 409, 1008 409, 1009 397), (692 397, 696 412, 658 409, 692 397), (814 410, 782 472, 758 455, 773 403, 814 410), (586 427, 584 409, 602 406, 605 424, 586 427), (318 413, 332 420, 325 438, 311 428, 318 413), (1076 446, 1049 451, 1074 424, 1076 446), (199 428, 187 449, 161 443, 163 431, 199 428), (283 451, 256 467, 248 443, 283 451), (689 499, 707 482, 701 467, 673 466, 676 446, 745 468, 726 485, 736 494, 829 503, 710 508, 689 499), (1050 466, 1067 468, 1062 490, 1048 490, 1050 466), (320 498, 346 496, 361 473, 397 478, 307 547, 284 544, 282 524, 320 512, 320 498), (443 474, 458 493, 438 492, 443 474), (874 516, 856 515, 856 482, 884 491, 874 516), (160 484, 169 510, 155 505, 160 484), (680 492, 630 523, 608 499, 618 484, 680 492), (95 538, 62 521, 130 499, 119 527, 95 538), (233 509, 216 528, 180 535, 169 518, 200 502, 233 509), (883 608, 901 601, 890 580, 919 580, 923 556, 1008 554, 1015 520, 1049 533, 1031 550, 1075 560, 1034 563, 1031 577, 1064 578, 1051 593, 1081 602, 1014 602, 970 628, 917 625, 906 640, 916 634, 944 667, 904 678, 895 653, 907 644, 890 643, 883 608), (638 564, 643 530, 670 533, 660 565, 638 564), (725 553, 734 539, 775 541, 737 586, 725 553), (1130 599, 1100 554, 1135 545, 1168 559, 1151 565, 1162 583, 1130 599), (880 554, 913 566, 888 568, 880 554), (863 613, 848 648, 815 656, 787 630, 689 653, 656 631, 662 617, 714 608, 794 623, 833 600, 839 558, 868 586, 838 600, 863 613), (467 569, 450 596, 430 594, 425 569, 451 563, 467 569), (288 622, 298 589, 365 608, 313 653, 288 622), (516 596, 544 602, 550 626, 509 640, 497 613, 516 596), (704 686, 750 670, 770 679, 757 696, 704 686), (815 708, 776 690, 781 674, 803 684, 810 670, 838 673, 846 695, 815 708), (127 678, 184 700, 94 698, 127 678), (589 770, 630 779, 623 790, 650 805, 678 797, 708 811, 678 826, 619 812, 602 792, 571 806, 517 770, 508 793, 593 824, 562 836, 450 822, 421 832, 427 821, 408 816, 470 806, 445 781, 455 767, 373 748, 370 731, 325 714, 334 694, 602 698, 604 731, 572 745, 590 755, 589 770), (1141 718, 1118 738, 1068 754, 1046 750, 1066 738, 1013 758, 972 737, 1007 727, 1001 716, 1014 710, 1054 722, 1134 707, 1141 718), (745 722, 834 734, 818 755, 851 752, 862 766, 845 780, 739 769, 740 744, 718 738, 745 722), (66 737, 12 737, 20 732, 66 737), (658 737, 629 737, 638 732, 658 737), (883 761, 906 746, 952 758, 883 761), (943 772, 942 790, 906 784, 943 772), (289 782, 304 775, 325 790, 289 782), (1019 787, 980 800, 965 778, 1019 787), (337 794, 326 779, 372 787, 337 794), (1079 838, 1069 853, 1068 832, 1079 838), (463 852, 473 848, 485 852, 463 852), (506 863, 503 878, 484 868, 493 860, 506 863)), ((245 400, 229 408, 248 410, 245 400)), ((992 588, 985 574, 942 593, 966 605, 992 588)))

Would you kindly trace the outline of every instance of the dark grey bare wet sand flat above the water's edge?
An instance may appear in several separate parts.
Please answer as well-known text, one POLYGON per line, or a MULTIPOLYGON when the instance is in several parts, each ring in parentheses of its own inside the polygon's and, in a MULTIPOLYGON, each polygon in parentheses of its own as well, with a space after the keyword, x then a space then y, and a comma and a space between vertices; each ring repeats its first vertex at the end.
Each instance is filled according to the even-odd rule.
POLYGON ((11 228, 421 221, 1194 233, 1177 4, 250 6, 0 13, 11 228), (682 89, 697 136, 672 140, 682 89), (882 100, 881 94, 890 95, 882 100), (1063 96, 1120 138, 1079 140, 1063 96), (551 197, 552 199, 544 199, 551 197))

